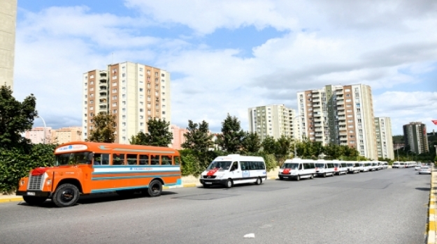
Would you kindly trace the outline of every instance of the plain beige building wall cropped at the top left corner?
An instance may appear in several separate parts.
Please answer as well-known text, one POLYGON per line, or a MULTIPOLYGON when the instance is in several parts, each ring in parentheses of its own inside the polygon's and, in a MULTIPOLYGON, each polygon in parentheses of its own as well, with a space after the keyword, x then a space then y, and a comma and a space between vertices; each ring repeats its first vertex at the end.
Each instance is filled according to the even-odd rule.
POLYGON ((17 0, 0 1, 0 86, 10 89, 13 89, 16 22, 17 0))

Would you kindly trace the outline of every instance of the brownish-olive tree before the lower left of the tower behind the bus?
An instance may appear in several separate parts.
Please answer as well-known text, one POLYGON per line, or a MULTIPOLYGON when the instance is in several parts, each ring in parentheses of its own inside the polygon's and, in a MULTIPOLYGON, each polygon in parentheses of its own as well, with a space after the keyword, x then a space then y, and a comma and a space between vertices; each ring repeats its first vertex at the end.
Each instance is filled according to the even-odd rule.
POLYGON ((115 142, 115 119, 113 114, 100 112, 92 117, 93 129, 89 131, 89 142, 115 142))

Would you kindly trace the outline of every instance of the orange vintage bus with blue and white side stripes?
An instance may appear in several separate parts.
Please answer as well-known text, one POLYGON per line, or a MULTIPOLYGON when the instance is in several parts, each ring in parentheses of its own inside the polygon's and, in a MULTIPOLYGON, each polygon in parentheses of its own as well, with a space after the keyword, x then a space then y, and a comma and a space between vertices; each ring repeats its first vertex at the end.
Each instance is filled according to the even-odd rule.
POLYGON ((180 155, 159 146, 70 142, 55 149, 55 166, 40 167, 21 178, 17 195, 31 205, 46 199, 73 206, 80 194, 140 191, 158 197, 162 185, 181 185, 180 155))

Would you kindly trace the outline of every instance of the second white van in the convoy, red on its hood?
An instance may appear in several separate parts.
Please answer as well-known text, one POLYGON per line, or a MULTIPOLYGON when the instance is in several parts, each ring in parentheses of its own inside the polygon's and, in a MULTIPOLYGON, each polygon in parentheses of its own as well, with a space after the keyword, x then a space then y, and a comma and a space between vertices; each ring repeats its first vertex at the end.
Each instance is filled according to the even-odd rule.
POLYGON ((285 160, 278 173, 280 180, 283 180, 284 178, 294 178, 296 181, 299 181, 301 178, 313 178, 314 175, 314 161, 300 158, 285 160))

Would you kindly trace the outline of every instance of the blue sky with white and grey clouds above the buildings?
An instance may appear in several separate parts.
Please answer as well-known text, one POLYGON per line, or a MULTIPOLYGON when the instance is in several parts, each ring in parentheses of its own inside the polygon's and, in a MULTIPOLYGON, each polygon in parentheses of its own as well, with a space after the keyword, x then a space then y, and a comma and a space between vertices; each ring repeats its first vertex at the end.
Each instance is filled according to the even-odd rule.
MULTIPOLYGON (((296 92, 367 84, 393 135, 437 119, 435 0, 18 0, 14 96, 82 126, 82 75, 132 61, 171 73, 171 123, 297 108, 296 92)), ((40 119, 35 126, 42 126, 40 119)))

